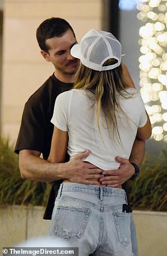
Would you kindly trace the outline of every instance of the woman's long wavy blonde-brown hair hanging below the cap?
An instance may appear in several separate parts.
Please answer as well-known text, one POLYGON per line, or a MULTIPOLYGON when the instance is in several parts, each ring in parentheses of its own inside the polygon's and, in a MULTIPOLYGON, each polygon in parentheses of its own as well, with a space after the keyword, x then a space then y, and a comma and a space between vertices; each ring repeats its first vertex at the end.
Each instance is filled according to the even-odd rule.
MULTIPOLYGON (((109 59, 105 61, 104 66, 115 64, 116 61, 115 59, 109 59)), ((120 65, 113 70, 96 71, 80 64, 79 70, 75 76, 73 88, 88 90, 95 95, 97 103, 96 118, 99 132, 99 114, 102 110, 106 120, 105 128, 108 130, 112 128, 112 135, 114 136, 116 134, 120 139, 116 110, 120 110, 121 112, 123 112, 123 110, 118 97, 119 94, 124 98, 130 98, 132 96, 132 94, 127 94, 126 88, 128 88, 128 85, 123 79, 122 66, 120 65)), ((124 113, 124 115, 126 116, 126 113, 124 113)))

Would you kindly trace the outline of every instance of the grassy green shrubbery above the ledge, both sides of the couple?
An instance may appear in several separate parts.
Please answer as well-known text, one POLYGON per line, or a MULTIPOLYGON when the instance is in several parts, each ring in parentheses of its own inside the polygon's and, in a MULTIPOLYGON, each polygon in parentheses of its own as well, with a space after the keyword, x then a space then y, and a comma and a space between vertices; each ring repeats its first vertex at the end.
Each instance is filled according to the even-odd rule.
MULTIPOLYGON (((138 178, 129 181, 129 200, 133 209, 167 211, 167 153, 146 156, 138 178)), ((45 206, 50 184, 23 180, 18 156, 8 140, 0 139, 0 206, 25 204, 45 206)))

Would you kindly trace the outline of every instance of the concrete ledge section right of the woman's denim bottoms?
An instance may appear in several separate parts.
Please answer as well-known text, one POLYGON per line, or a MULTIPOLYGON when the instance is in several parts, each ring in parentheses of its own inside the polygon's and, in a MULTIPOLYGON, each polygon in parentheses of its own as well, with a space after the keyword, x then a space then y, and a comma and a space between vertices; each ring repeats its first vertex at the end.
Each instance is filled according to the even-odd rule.
POLYGON ((167 213, 134 211, 139 256, 165 256, 167 252, 167 213))

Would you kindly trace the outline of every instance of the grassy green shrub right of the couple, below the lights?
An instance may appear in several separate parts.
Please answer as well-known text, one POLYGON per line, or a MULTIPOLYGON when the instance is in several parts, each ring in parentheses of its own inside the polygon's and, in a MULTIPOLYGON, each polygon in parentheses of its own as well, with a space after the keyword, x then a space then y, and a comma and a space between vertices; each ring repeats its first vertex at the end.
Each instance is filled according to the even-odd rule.
POLYGON ((140 175, 130 181, 129 201, 133 209, 167 211, 167 152, 146 156, 140 175))

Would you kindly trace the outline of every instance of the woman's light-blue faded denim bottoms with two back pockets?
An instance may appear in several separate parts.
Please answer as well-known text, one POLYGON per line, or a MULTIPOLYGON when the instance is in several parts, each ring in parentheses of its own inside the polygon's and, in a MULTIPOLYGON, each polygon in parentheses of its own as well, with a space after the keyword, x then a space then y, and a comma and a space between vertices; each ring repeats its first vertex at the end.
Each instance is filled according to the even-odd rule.
POLYGON ((64 183, 58 191, 50 236, 61 237, 80 256, 130 256, 131 213, 122 212, 126 192, 112 187, 64 183))

